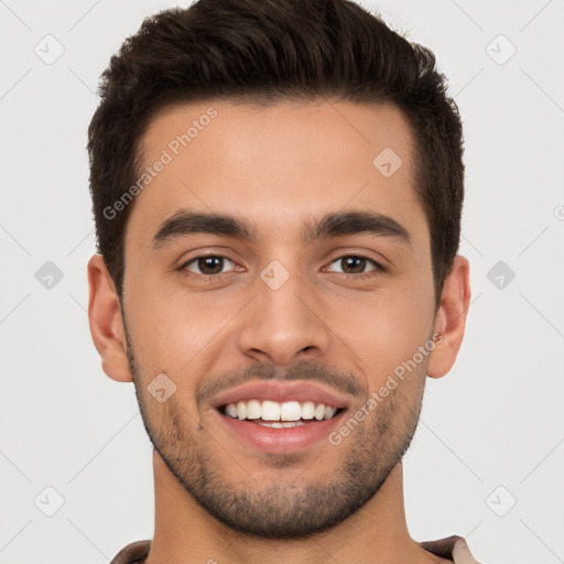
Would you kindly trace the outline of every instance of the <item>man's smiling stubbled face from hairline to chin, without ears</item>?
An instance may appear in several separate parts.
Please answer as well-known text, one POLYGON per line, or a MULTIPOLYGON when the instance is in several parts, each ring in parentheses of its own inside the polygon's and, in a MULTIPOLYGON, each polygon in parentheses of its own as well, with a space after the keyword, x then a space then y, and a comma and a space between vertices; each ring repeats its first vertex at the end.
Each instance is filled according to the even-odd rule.
POLYGON ((337 100, 184 105, 143 137, 161 170, 126 232, 130 369, 154 448, 232 529, 326 530, 409 445, 436 321, 411 142, 394 107, 337 100), (273 403, 296 426, 263 425, 273 403))

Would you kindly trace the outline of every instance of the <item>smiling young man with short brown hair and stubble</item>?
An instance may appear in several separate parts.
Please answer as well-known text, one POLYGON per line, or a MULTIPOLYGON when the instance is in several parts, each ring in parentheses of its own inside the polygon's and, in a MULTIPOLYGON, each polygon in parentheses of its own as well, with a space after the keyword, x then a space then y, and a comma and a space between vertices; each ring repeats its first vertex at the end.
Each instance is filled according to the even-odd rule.
POLYGON ((100 94, 90 330, 155 481, 153 540, 112 562, 476 562, 403 509, 470 299, 432 53, 345 0, 200 0, 147 19, 100 94))

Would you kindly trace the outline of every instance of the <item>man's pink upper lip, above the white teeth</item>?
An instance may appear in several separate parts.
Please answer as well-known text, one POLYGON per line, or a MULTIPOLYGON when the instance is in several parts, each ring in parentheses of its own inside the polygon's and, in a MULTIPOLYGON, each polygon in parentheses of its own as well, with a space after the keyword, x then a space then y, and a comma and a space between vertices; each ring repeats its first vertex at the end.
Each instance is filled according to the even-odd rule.
POLYGON ((218 394, 214 401, 214 408, 220 408, 228 403, 237 403, 247 400, 271 400, 280 403, 286 401, 312 401, 314 403, 324 403, 337 409, 346 409, 349 400, 346 395, 339 394, 324 386, 307 380, 292 381, 254 381, 239 388, 228 390, 218 394))

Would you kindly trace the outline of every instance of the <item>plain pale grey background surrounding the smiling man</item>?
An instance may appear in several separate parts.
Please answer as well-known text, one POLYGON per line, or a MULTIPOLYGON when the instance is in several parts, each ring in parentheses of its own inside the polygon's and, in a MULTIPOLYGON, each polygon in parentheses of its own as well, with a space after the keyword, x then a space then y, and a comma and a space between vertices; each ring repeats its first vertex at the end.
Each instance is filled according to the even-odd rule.
MULTIPOLYGON (((104 375, 88 330, 85 144, 110 55, 170 6, 0 0, 2 564, 101 564, 153 533, 133 386, 104 375)), ((466 138, 473 302, 405 457, 411 533, 462 534, 490 564, 564 562, 564 2, 378 7, 435 52, 466 138)))

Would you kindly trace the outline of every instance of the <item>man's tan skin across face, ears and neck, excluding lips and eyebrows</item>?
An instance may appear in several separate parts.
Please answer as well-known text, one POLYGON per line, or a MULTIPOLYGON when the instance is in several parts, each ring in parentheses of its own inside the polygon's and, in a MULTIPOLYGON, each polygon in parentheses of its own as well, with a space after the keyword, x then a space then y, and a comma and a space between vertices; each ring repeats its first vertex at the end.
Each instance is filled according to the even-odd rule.
POLYGON ((186 104, 152 120, 143 135, 147 164, 210 106, 217 117, 135 198, 122 311, 102 257, 88 263, 90 330, 102 369, 134 382, 155 446, 148 563, 446 562, 409 534, 401 456, 426 377, 446 375, 459 350, 469 265, 456 257, 435 310, 430 234, 403 115, 390 105, 339 100, 186 104), (403 161, 391 177, 372 165, 384 148, 403 161), (152 248, 162 223, 182 208, 246 218, 258 239, 197 234, 152 248), (304 246, 304 223, 345 210, 384 214, 411 242, 355 234, 304 246), (207 253, 229 259, 220 275, 206 281, 197 261, 183 270, 207 253), (370 261, 347 270, 339 259, 350 256, 384 270, 370 261), (275 291, 260 278, 272 260, 290 275, 275 291), (225 391, 223 382, 268 379, 269 370, 295 379, 307 369, 313 381, 346 394, 354 414, 435 332, 441 343, 338 446, 322 441, 285 455, 252 448, 218 424, 212 398, 202 394, 206 386, 225 391), (176 386, 164 403, 147 389, 162 372, 176 386), (273 538, 275 530, 288 538, 273 538))

